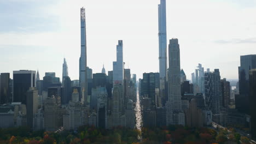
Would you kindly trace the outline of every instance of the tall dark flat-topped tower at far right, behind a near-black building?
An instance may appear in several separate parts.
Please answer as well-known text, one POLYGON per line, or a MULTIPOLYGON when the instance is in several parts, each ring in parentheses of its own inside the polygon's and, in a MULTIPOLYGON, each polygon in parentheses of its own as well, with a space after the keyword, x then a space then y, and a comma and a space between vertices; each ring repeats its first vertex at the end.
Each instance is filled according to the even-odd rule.
POLYGON ((236 109, 239 112, 249 114, 249 70, 256 69, 256 55, 240 56, 240 67, 238 67, 239 93, 236 101, 236 109))

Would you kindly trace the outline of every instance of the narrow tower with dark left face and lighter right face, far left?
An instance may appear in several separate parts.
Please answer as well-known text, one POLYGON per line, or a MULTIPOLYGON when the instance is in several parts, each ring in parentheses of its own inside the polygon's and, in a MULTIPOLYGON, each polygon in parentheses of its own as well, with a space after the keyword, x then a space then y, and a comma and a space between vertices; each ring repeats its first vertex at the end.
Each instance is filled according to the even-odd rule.
POLYGON ((36 88, 31 87, 27 91, 27 127, 33 129, 33 117, 37 112, 38 108, 38 92, 36 88))

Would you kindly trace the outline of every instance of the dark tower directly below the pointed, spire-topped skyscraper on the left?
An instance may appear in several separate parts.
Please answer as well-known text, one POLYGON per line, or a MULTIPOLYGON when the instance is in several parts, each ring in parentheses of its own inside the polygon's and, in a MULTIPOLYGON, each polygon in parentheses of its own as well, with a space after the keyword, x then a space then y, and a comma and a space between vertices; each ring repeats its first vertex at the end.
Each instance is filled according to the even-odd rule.
POLYGON ((61 104, 67 105, 69 100, 71 100, 71 95, 72 95, 71 80, 68 76, 64 76, 63 77, 61 104))

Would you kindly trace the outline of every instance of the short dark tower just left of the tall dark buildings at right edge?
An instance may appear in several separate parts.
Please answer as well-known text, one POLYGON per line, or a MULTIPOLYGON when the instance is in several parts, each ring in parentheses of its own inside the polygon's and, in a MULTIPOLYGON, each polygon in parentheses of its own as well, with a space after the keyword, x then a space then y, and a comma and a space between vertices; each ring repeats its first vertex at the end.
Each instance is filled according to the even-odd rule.
POLYGON ((230 102, 230 82, 226 81, 226 79, 220 80, 222 85, 222 106, 225 108, 229 108, 230 102))

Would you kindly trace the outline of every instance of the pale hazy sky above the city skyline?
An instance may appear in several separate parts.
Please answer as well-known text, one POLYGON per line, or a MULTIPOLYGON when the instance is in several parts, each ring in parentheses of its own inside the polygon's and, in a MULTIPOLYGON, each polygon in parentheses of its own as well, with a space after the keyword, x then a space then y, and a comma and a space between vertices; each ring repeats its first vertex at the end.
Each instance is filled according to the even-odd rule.
MULTIPOLYGON (((88 66, 112 70, 124 43, 125 68, 158 72, 160 0, 0 0, 0 73, 39 70, 62 75, 63 58, 79 78, 80 8, 86 11, 88 66)), ((167 39, 178 38, 188 79, 198 63, 238 78, 240 55, 256 54, 256 0, 166 0, 167 39)), ((168 40, 167 40, 168 41, 168 40)), ((168 44, 168 43, 167 43, 168 44)), ((11 76, 12 77, 12 76, 11 76)))

